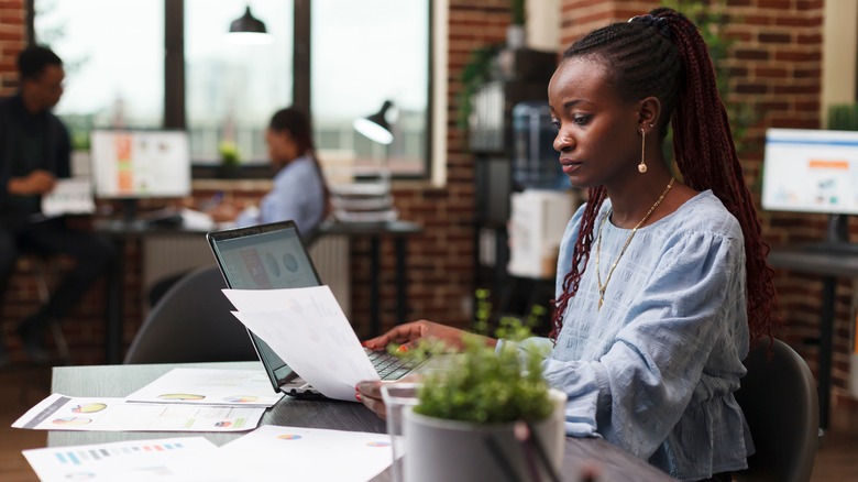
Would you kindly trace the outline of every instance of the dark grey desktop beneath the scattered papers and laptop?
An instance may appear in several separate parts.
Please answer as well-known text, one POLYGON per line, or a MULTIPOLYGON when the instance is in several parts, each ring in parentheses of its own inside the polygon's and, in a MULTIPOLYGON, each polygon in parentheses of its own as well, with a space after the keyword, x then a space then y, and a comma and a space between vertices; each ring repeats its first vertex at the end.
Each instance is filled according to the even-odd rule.
MULTIPOLYGON (((169 370, 184 368, 213 368, 262 370, 258 362, 237 363, 189 363, 156 365, 102 365, 102 366, 55 366, 53 369, 52 392, 70 396, 117 396, 122 397, 141 388, 169 370)), ((382 419, 363 405, 349 402, 309 402, 285 397, 265 412, 262 424, 292 427, 329 428, 337 430, 385 431, 382 419)), ((108 431, 50 431, 50 447, 103 443, 120 440, 141 440, 165 437, 205 436, 217 445, 223 445, 243 434, 200 434, 200 432, 108 432, 108 431)), ((660 470, 638 460, 623 450, 601 439, 568 438, 563 457, 563 480, 578 481, 584 465, 594 465, 598 470, 597 480, 604 481, 671 481, 660 470)), ((374 482, 389 481, 384 472, 374 482)))

